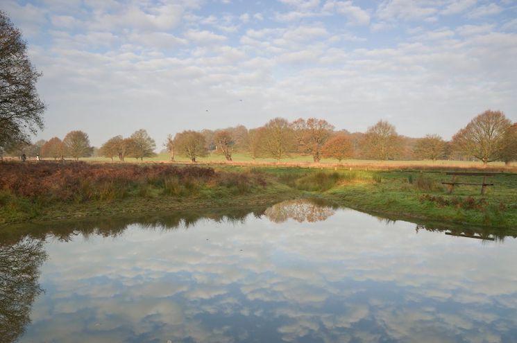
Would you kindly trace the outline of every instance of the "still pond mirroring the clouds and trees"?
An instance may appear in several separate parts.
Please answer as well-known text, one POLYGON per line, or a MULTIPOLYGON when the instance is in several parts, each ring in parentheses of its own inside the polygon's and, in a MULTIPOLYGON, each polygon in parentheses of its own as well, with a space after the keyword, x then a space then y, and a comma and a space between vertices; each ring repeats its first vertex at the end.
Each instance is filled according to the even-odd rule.
POLYGON ((517 240, 481 236, 308 200, 3 229, 0 337, 517 342, 517 240))

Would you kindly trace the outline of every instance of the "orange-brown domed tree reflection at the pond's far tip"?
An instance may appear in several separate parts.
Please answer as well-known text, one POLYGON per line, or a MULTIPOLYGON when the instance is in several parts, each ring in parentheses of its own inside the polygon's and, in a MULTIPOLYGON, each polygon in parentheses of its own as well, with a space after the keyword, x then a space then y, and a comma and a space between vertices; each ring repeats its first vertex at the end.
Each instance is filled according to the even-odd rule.
POLYGON ((330 206, 317 204, 312 200, 287 200, 275 204, 264 212, 272 222, 285 222, 291 218, 297 222, 320 222, 332 216, 335 211, 330 206))

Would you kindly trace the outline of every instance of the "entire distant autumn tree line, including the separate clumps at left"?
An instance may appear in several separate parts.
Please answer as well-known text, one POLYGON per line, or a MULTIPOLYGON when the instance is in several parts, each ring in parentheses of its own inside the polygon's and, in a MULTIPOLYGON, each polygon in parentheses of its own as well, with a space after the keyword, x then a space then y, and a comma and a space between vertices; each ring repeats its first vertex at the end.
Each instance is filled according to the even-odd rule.
MULTIPOLYGON (((120 135, 105 141, 96 150, 90 146, 85 132, 71 131, 64 139, 53 137, 49 141, 34 144, 20 143, 9 152, 29 156, 62 159, 108 157, 112 161, 124 161, 126 157, 143 160, 155 155, 156 144, 146 130, 137 130, 130 137, 120 135)), ((397 133, 396 127, 387 121, 378 121, 366 132, 350 133, 334 130, 334 125, 319 118, 299 118, 289 122, 285 118, 273 118, 265 125, 248 130, 244 125, 221 130, 185 130, 175 136, 169 134, 164 143, 170 159, 176 155, 196 162, 200 157, 219 154, 232 161, 235 153, 246 154, 252 159, 269 157, 280 161, 292 155, 310 155, 314 162, 321 159, 477 159, 488 164, 517 160, 517 123, 512 124, 500 111, 487 110, 461 128, 452 140, 445 141, 438 134, 423 138, 409 138, 397 133)))

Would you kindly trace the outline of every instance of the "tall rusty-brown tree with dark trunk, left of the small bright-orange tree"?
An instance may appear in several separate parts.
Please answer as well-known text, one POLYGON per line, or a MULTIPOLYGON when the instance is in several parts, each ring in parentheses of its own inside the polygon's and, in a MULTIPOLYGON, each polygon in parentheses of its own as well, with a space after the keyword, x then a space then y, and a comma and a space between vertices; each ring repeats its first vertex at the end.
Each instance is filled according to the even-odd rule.
POLYGON ((323 119, 303 118, 292 123, 300 152, 312 155, 314 162, 321 160, 321 149, 329 139, 334 125, 323 119))

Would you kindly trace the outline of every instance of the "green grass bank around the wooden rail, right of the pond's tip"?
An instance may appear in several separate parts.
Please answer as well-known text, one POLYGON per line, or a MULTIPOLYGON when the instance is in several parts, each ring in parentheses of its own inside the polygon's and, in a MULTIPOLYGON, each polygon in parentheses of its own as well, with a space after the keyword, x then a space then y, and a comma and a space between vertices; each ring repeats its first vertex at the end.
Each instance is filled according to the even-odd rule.
MULTIPOLYGON (((441 184, 445 173, 262 168, 280 182, 316 193, 337 204, 391 218, 517 229, 517 175, 491 177, 495 184, 458 186, 452 194, 441 184), (328 177, 322 177, 326 173, 328 177)), ((481 182, 482 177, 458 181, 481 182)))

